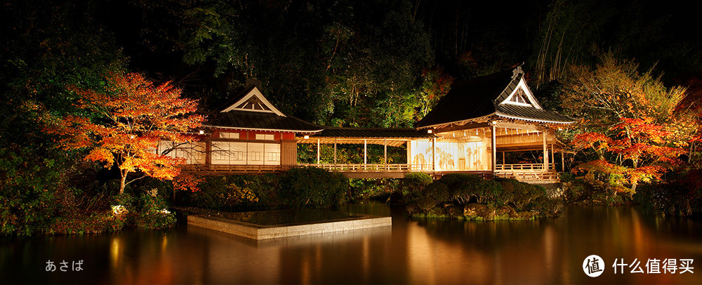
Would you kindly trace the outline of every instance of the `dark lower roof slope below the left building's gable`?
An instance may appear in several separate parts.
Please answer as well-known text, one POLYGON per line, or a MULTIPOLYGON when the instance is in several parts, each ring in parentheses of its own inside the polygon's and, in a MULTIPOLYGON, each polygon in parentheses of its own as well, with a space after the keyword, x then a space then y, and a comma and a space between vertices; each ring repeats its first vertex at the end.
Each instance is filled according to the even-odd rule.
POLYGON ((311 124, 296 117, 278 116, 270 112, 253 112, 231 110, 210 115, 209 125, 226 128, 259 129, 271 131, 295 131, 298 133, 316 133, 323 126, 311 124))

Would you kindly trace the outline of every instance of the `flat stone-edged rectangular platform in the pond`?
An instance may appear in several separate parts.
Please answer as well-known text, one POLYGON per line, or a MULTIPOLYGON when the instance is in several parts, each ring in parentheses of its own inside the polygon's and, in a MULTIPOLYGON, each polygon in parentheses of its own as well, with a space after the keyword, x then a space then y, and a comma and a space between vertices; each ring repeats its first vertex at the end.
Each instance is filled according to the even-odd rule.
POLYGON ((187 224, 249 239, 298 237, 346 230, 388 227, 392 218, 324 210, 277 210, 187 216, 187 224))

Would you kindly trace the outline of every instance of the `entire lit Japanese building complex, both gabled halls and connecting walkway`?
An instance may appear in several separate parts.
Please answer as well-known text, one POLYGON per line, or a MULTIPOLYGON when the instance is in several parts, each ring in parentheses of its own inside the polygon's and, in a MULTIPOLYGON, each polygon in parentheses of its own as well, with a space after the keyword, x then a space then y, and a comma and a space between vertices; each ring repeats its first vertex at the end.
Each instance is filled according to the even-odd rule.
MULTIPOLYGON (((529 90, 522 67, 458 82, 416 128, 325 128, 280 112, 258 90, 240 93, 208 116, 208 139, 189 144, 189 169, 205 173, 284 171, 298 166, 297 144, 317 146, 317 166, 352 178, 402 178, 420 171, 439 177, 470 172, 486 178, 555 180, 553 158, 562 148, 555 129, 573 119, 544 110, 529 90), (362 144, 363 163, 338 164, 338 144, 362 144), (368 164, 367 145, 383 145, 382 163, 368 164), (321 145, 333 145, 333 161, 320 159, 321 145), (406 146, 406 163, 392 164, 387 148, 406 146), (538 161, 507 163, 505 152, 539 151, 538 161)), ((562 157, 562 156, 561 156, 562 157)))

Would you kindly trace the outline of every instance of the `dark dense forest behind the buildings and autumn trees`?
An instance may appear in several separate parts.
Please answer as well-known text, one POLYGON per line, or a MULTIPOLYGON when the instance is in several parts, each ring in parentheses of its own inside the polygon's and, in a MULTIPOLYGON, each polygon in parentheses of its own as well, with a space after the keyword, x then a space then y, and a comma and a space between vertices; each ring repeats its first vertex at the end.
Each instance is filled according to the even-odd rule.
POLYGON ((520 64, 539 100, 576 115, 582 110, 564 100, 572 91, 569 80, 616 58, 663 89, 687 88, 672 107, 698 119, 702 33, 696 32, 696 9, 690 5, 4 1, 3 232, 16 230, 7 227, 18 224, 11 217, 22 211, 24 224, 41 225, 50 218, 44 211, 55 211, 53 201, 89 204, 75 201, 85 196, 76 193, 97 191, 92 181, 100 172, 46 129, 68 115, 98 117, 74 104, 79 95, 72 90, 105 89, 108 74, 138 72, 155 82, 172 81, 185 97, 199 100, 201 114, 257 79, 274 105, 300 119, 325 126, 410 127, 452 82, 520 64))

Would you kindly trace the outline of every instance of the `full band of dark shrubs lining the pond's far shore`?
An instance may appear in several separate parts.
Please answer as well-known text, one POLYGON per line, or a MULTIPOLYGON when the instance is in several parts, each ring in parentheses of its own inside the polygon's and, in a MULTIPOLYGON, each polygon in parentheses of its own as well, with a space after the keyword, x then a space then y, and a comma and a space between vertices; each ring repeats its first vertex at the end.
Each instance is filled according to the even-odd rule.
POLYGON ((125 227, 166 229, 176 225, 173 206, 236 212, 338 208, 349 202, 376 199, 403 206, 406 215, 414 218, 459 220, 551 218, 560 215, 564 204, 612 206, 638 201, 647 210, 681 216, 690 216, 700 207, 700 199, 694 196, 698 193, 698 181, 694 179, 641 187, 634 201, 632 197, 597 190, 571 175, 564 175, 564 179, 562 197, 549 197, 540 185, 505 178, 483 180, 465 173, 451 173, 435 181, 425 173, 408 173, 404 179, 348 179, 321 168, 302 167, 277 175, 205 177, 195 192, 174 190, 170 181, 146 178, 127 187, 122 195, 95 197, 88 203, 89 208, 67 209, 51 216, 40 232, 97 234, 125 227))

